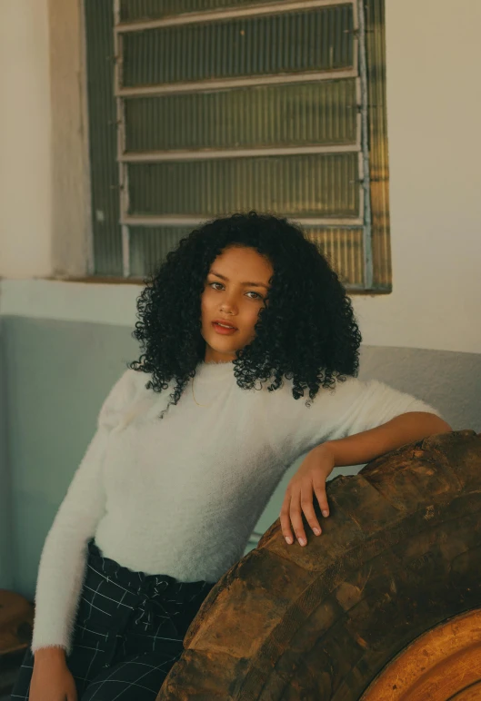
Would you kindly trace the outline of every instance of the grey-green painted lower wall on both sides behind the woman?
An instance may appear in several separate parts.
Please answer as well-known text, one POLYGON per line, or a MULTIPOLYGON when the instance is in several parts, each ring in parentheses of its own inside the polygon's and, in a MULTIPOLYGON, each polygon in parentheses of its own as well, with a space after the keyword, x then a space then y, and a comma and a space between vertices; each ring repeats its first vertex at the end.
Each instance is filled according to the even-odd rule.
MULTIPOLYGON (((32 597, 55 511, 95 430, 98 410, 125 362, 135 359, 137 345, 129 328, 95 323, 5 316, 0 330, 7 378, 1 396, 8 414, 14 584, 32 597)), ((454 429, 481 430, 481 355, 365 348, 361 377, 386 381, 431 402, 454 429)), ((277 518, 286 484, 301 461, 286 472, 256 530, 265 530, 277 518)), ((4 457, 2 476, 5 468, 4 457)), ((1 545, 0 534, 5 578, 1 545)), ((3 545, 5 550, 5 540, 3 545)))

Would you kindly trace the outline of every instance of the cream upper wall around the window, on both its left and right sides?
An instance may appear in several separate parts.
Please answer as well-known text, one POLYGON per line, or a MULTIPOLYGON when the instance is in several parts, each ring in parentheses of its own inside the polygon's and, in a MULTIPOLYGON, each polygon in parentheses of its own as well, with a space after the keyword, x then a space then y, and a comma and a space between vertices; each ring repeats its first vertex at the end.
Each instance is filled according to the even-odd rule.
MULTIPOLYGON (((51 0, 51 5, 58 2, 51 0)), ((85 256, 85 238, 79 242, 78 229, 74 232, 75 222, 87 207, 82 199, 82 104, 72 87, 72 81, 78 84, 81 54, 75 34, 76 7, 77 0, 63 0, 55 10, 70 17, 70 37, 63 45, 72 46, 73 54, 65 69, 59 71, 57 66, 56 73, 52 72, 52 103, 45 0, 3 0, 0 4, 6 41, 0 43, 2 65, 7 58, 16 57, 12 69, 2 75, 9 109, 0 114, 0 138, 5 142, 0 153, 6 150, 0 173, 0 211, 5 219, 0 234, 0 276, 7 278, 42 277, 51 270, 68 272, 68 256, 74 268, 85 267, 85 259, 79 260, 85 256), (64 129, 58 122, 61 114, 65 114, 64 129), (53 166, 50 121, 57 125, 53 166), (32 168, 25 175, 27 163, 32 168)), ((51 23, 54 35, 58 25, 62 23, 51 23)), ((481 352, 477 321, 481 300, 479 26, 479 0, 463 0, 462 4, 386 0, 394 291, 355 298, 367 345, 481 352)), ((51 48, 58 58, 60 45, 51 48)), ((85 237, 85 227, 83 232, 85 237)), ((4 281, 0 311, 133 324, 138 288, 125 291, 123 285, 114 289, 95 286, 96 303, 92 303, 87 287, 35 281, 24 284, 18 296, 19 288, 4 281), (47 290, 45 285, 52 287, 47 290), (65 293, 70 299, 67 306, 62 301, 65 293), (103 307, 102 295, 108 307, 103 307), (22 300, 27 306, 22 306, 22 300)))

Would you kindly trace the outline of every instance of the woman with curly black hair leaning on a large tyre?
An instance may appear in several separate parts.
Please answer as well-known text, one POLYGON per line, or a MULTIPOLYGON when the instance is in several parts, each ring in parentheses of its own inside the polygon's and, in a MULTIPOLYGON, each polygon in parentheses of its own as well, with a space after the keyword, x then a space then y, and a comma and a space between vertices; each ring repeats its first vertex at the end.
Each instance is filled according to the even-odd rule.
POLYGON ((13 699, 154 701, 296 458, 307 453, 281 523, 305 547, 303 515, 320 535, 334 467, 450 430, 424 402, 356 379, 346 291, 286 220, 250 212, 195 230, 147 281, 138 317, 143 352, 45 541, 13 699))

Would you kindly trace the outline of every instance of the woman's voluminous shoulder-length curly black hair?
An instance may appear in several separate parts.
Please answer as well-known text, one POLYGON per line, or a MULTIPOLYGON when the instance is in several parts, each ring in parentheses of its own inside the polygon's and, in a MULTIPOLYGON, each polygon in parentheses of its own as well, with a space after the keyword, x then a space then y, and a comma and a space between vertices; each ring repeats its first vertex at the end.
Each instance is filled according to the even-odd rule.
POLYGON ((128 367, 150 373, 145 387, 156 392, 166 390, 175 378, 165 411, 178 402, 197 364, 205 359, 201 295, 211 264, 229 246, 256 249, 274 269, 256 337, 235 352, 237 385, 250 390, 256 380, 261 387, 273 380, 267 389, 274 391, 286 377, 293 380, 296 400, 304 397, 306 388, 313 400, 320 387, 332 388, 336 380, 356 376, 361 334, 351 301, 326 257, 286 219, 236 213, 207 222, 183 238, 146 278, 138 297, 140 321, 132 335, 143 352, 128 367))

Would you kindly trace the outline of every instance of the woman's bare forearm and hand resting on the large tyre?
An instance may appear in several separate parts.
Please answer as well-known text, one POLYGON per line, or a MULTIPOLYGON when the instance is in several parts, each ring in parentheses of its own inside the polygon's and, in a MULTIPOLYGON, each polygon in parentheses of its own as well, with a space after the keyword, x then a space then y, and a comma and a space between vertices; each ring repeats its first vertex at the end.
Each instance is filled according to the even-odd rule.
POLYGON ((293 542, 292 523, 299 544, 306 545, 303 511, 316 536, 321 534, 313 505, 313 493, 316 494, 322 515, 327 517, 329 506, 326 498, 326 479, 334 468, 362 465, 406 443, 450 430, 451 427, 446 421, 436 414, 411 411, 396 416, 375 429, 368 429, 343 439, 327 440, 310 450, 289 482, 281 508, 281 528, 286 542, 289 545, 293 542))

